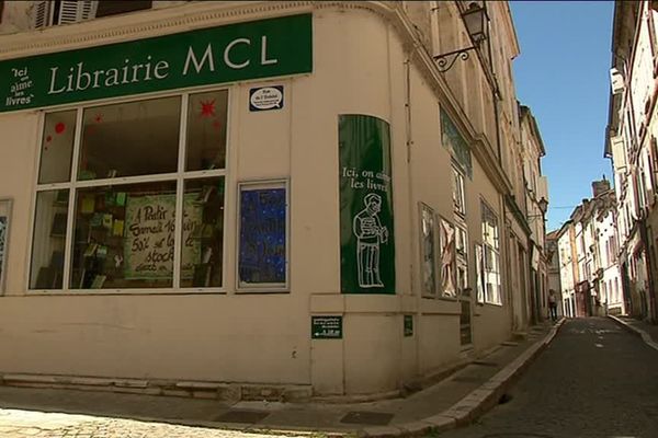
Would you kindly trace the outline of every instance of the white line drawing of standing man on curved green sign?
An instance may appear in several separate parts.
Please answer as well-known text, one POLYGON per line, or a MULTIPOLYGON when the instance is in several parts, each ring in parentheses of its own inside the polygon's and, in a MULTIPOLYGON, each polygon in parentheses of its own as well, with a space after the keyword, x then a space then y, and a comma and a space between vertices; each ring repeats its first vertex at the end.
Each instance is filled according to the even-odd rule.
POLYGON ((365 208, 354 217, 352 229, 356 235, 356 263, 359 286, 384 287, 379 277, 379 244, 388 242, 388 229, 382 227, 377 214, 382 210, 382 197, 368 193, 363 198, 365 208))

